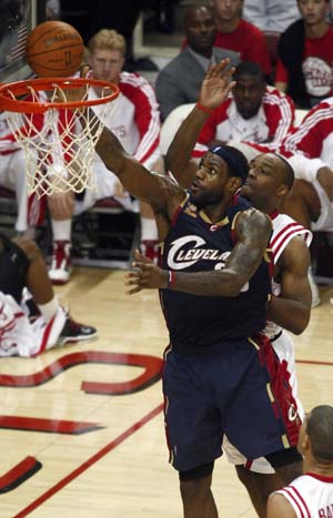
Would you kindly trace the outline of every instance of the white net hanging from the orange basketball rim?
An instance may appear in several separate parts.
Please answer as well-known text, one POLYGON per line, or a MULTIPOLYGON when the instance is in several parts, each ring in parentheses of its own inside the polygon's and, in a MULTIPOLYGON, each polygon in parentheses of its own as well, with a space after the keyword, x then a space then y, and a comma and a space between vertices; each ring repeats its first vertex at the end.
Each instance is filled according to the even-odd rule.
MULTIPOLYGON (((29 102, 36 103, 67 102, 69 95, 57 83, 47 92, 36 91, 33 85, 29 91, 29 102)), ((91 94, 101 99, 98 115, 93 109, 82 106, 49 108, 44 113, 7 112, 9 126, 26 153, 29 194, 34 192, 41 197, 56 192, 97 189, 91 172, 94 146, 117 100, 102 101, 110 97, 108 88, 87 87, 84 99, 89 100, 91 94)))

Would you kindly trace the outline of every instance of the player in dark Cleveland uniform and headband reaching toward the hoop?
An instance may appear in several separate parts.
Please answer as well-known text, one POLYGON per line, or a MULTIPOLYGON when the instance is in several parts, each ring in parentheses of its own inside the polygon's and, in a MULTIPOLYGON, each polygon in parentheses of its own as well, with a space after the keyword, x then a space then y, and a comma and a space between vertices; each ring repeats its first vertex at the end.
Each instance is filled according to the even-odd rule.
MULTIPOLYGON (((220 98, 234 84, 226 65, 206 74, 206 98, 194 108, 203 116, 216 87, 220 98)), ((287 420, 291 387, 261 333, 271 291, 271 220, 236 196, 248 161, 234 148, 212 148, 189 191, 150 173, 105 128, 97 152, 155 214, 162 270, 151 275, 137 253, 140 267, 134 262, 127 274, 128 293, 160 288, 170 335, 163 369, 170 463, 179 471, 184 518, 216 518, 211 480, 224 434, 249 458, 265 456, 279 467, 286 451, 287 464, 301 461, 299 417, 287 420)))

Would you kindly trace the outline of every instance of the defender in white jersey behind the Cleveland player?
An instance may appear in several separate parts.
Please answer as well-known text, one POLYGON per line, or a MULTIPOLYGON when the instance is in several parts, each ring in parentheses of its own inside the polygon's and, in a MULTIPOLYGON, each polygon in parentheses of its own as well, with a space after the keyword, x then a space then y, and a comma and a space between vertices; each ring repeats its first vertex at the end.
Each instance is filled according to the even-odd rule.
MULTIPOLYGON (((191 162, 191 150, 204 122, 204 115, 194 110, 179 129, 167 154, 169 169, 183 186, 191 184, 196 172, 196 164, 191 162)), ((290 191, 293 177, 293 171, 285 160, 272 153, 263 154, 250 164, 249 177, 242 187, 242 194, 255 207, 269 214, 273 223, 270 246, 274 262, 274 296, 268 306, 271 322, 265 334, 271 338, 290 376, 293 388, 291 416, 296 415, 295 409, 301 415, 303 410, 296 398, 294 347, 283 327, 295 334, 302 333, 309 323, 311 301, 307 280, 310 255, 305 245, 310 245, 311 232, 287 215, 279 213, 279 205, 290 191)), ((240 480, 246 486, 258 515, 265 517, 268 497, 272 490, 281 487, 280 478, 273 475, 274 469, 265 459, 248 461, 226 438, 223 449, 228 459, 235 465, 240 480)), ((291 478, 295 476, 296 471, 292 475, 291 470, 291 478)))

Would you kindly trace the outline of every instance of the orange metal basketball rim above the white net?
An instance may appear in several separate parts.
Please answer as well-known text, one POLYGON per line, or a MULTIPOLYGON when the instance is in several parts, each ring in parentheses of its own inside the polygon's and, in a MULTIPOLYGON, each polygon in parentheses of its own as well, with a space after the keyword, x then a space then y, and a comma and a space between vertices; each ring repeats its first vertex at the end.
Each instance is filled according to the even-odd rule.
POLYGON ((14 83, 0 84, 0 110, 18 113, 44 113, 50 108, 57 110, 75 109, 82 106, 95 106, 99 104, 105 104, 107 102, 113 101, 119 95, 119 88, 113 83, 107 81, 99 81, 97 79, 67 79, 67 78, 43 78, 43 79, 30 79, 26 81, 18 81, 14 83), (59 87, 62 90, 74 90, 80 87, 89 84, 90 87, 97 87, 102 89, 111 90, 111 93, 93 100, 75 101, 75 102, 38 102, 38 101, 24 101, 21 99, 13 99, 16 97, 31 95, 31 91, 41 92, 51 90, 54 87, 59 87))

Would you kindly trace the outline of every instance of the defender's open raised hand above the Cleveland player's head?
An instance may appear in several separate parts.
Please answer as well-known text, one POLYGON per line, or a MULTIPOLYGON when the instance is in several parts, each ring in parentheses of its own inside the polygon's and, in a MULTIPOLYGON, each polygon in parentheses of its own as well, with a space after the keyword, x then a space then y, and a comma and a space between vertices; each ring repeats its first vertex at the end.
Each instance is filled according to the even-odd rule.
POLYGON ((205 108, 218 108, 229 95, 235 81, 231 80, 234 69, 228 69, 230 59, 220 61, 218 64, 212 64, 201 85, 199 102, 205 108))

